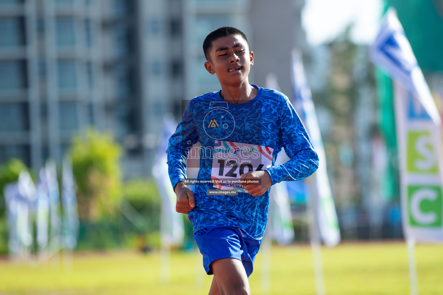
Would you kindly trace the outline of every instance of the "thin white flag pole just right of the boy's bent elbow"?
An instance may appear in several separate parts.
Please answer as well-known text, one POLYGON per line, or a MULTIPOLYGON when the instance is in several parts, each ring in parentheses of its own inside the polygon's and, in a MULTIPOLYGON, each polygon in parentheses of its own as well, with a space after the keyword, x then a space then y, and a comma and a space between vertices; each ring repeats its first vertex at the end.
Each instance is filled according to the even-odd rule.
POLYGON ((320 233, 317 218, 317 195, 315 192, 314 178, 311 176, 308 178, 309 186, 311 188, 310 198, 308 200, 307 217, 309 224, 309 234, 312 250, 312 260, 314 263, 314 276, 315 276, 315 290, 317 295, 326 295, 325 278, 323 273, 323 258, 322 249, 320 245, 320 233))

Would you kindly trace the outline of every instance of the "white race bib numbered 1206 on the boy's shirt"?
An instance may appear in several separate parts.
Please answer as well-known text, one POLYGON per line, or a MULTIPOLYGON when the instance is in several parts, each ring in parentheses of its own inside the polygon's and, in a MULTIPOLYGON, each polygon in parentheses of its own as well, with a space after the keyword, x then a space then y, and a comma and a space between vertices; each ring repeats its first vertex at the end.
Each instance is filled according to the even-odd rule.
POLYGON ((239 184, 241 174, 271 167, 273 151, 268 146, 216 140, 211 171, 214 187, 245 192, 239 184))

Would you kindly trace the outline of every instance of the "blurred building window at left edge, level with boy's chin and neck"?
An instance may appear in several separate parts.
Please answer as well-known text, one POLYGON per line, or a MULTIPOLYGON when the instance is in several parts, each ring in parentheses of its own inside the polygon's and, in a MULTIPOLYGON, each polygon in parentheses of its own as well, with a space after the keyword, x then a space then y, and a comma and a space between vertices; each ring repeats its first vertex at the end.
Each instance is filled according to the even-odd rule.
POLYGON ((25 61, 0 61, 0 90, 27 87, 25 61))

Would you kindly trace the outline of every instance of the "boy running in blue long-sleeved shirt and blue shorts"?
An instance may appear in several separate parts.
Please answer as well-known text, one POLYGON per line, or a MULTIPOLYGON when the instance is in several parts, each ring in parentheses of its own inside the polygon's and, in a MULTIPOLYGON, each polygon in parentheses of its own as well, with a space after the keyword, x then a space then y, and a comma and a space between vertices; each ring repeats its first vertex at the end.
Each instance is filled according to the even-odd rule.
POLYGON ((195 97, 186 107, 169 139, 169 176, 176 211, 188 214, 206 273, 214 274, 209 294, 249 295, 248 277, 268 218, 269 188, 310 176, 318 157, 288 97, 249 84, 254 54, 245 34, 218 28, 206 36, 203 51, 205 68, 217 75, 221 90, 195 97), (183 179, 196 142, 202 145, 197 180, 207 182, 193 192, 183 179), (274 165, 282 147, 290 160, 274 165))

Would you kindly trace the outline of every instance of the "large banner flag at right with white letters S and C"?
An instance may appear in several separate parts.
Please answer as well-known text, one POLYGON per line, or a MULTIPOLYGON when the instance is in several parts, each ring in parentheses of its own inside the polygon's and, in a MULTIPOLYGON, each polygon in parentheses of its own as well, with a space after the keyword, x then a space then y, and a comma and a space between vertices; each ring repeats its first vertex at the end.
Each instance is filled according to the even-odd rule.
POLYGON ((441 119, 392 8, 386 12, 370 54, 373 63, 394 80, 404 236, 443 241, 441 119))

